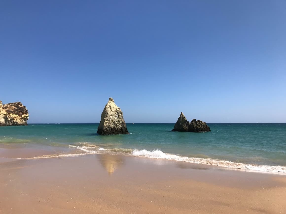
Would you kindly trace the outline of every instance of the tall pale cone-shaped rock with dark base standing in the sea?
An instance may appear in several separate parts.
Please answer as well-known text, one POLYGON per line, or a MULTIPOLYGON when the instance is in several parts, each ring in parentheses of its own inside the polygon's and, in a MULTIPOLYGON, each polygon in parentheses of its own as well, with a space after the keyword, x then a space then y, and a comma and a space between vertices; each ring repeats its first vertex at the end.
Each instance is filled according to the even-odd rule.
POLYGON ((101 114, 101 120, 97 133, 101 135, 129 134, 123 119, 123 113, 121 109, 116 106, 111 97, 109 98, 101 114))

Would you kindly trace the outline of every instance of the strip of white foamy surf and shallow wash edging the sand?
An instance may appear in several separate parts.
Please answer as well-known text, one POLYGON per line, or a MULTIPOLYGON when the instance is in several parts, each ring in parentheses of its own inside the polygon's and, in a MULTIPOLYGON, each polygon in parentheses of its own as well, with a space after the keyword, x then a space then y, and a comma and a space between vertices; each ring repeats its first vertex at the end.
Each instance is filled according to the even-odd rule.
MULTIPOLYGON (((286 166, 276 166, 276 165, 257 165, 257 164, 243 164, 235 163, 226 160, 216 160, 211 158, 189 158, 178 156, 174 154, 164 153, 161 150, 147 151, 147 150, 133 150, 133 149, 122 149, 122 150, 132 150, 133 152, 122 152, 121 149, 103 149, 101 147, 95 147, 93 145, 91 148, 86 146, 43 146, 43 145, 31 145, 32 147, 14 147, 13 145, 6 145, 0 148, 0 163, 5 161, 5 159, 23 159, 23 160, 33 160, 33 159, 45 159, 45 158, 63 158, 63 157, 77 157, 85 155, 96 155, 96 154, 107 154, 107 155, 118 155, 118 156, 131 156, 138 158, 148 158, 153 160, 166 160, 175 162, 185 162, 190 164, 205 165, 211 167, 217 167, 218 169, 224 170, 235 170, 235 171, 246 171, 246 172, 256 172, 256 173, 267 173, 276 175, 286 175, 286 166), (35 147, 35 148, 33 148, 35 147), (96 148, 97 150, 94 150, 96 148), (89 149, 92 149, 90 151, 89 149), (119 151, 118 151, 119 150, 119 151), (138 154, 139 152, 139 154, 138 154), (143 155, 140 155, 143 152, 143 155), (156 153, 152 156, 152 153, 156 153), (159 154, 157 154, 159 153, 159 154), (150 156, 151 154, 151 156, 150 156), (259 168, 260 167, 260 168, 259 168), (261 170, 262 168, 262 170, 261 170), (281 170, 282 169, 282 170, 281 170)), ((6 160, 7 162, 9 160, 6 160)))

